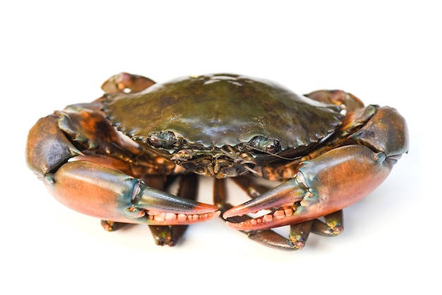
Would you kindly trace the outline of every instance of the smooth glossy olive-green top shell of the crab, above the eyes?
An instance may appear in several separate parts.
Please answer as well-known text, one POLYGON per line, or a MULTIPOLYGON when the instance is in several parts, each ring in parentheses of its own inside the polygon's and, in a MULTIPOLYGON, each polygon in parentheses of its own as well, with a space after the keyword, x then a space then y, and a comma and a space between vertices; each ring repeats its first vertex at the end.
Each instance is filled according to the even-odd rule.
POLYGON ((220 148, 273 138, 282 150, 317 143, 339 126, 338 106, 297 95, 269 80, 233 74, 188 76, 107 100, 112 124, 132 138, 172 131, 220 148))

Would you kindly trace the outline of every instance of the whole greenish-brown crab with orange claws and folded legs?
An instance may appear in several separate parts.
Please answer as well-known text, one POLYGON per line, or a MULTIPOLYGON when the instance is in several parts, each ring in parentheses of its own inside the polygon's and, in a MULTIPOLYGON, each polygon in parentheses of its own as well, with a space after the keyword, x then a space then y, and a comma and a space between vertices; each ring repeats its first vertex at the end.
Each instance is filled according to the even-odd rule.
POLYGON ((218 216, 274 248, 303 248, 310 233, 336 236, 342 209, 408 151, 396 109, 364 107, 341 90, 297 95, 226 73, 167 83, 120 73, 102 90, 37 121, 28 167, 64 205, 108 231, 148 224, 158 245, 174 246, 189 224, 218 216), (201 175, 214 179, 213 205, 196 200, 201 175), (232 205, 227 178, 250 199, 232 205), (282 226, 288 236, 274 230, 282 226))

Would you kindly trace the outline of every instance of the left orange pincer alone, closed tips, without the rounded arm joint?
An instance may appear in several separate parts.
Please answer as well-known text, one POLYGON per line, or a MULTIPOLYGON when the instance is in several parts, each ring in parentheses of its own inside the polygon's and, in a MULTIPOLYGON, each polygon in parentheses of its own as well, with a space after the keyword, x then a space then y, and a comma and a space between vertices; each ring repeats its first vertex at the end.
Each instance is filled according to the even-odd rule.
POLYGON ((54 198, 73 210, 112 222, 175 225, 220 215, 217 207, 150 188, 117 169, 83 160, 45 176, 54 198))

